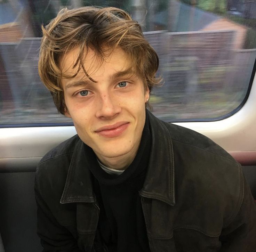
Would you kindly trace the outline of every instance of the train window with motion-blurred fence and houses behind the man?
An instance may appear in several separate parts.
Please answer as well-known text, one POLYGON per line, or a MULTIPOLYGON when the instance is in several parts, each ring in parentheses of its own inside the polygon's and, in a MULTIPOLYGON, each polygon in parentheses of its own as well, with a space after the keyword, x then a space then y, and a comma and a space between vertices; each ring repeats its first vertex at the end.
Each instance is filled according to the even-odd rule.
POLYGON ((256 58, 256 1, 0 1, 0 125, 71 124, 57 113, 38 72, 40 25, 63 7, 114 6, 143 27, 165 82, 152 112, 169 122, 219 120, 245 102, 256 58))

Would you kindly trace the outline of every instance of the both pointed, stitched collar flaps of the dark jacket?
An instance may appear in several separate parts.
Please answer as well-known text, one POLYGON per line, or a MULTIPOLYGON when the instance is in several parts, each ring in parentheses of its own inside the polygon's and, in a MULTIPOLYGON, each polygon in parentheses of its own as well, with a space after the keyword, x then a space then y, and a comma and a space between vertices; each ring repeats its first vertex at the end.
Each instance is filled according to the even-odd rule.
MULTIPOLYGON (((173 144, 168 124, 149 111, 151 153, 149 167, 140 195, 175 205, 175 173, 173 144)), ((60 203, 95 202, 91 173, 84 160, 84 144, 79 139, 75 146, 60 203)))

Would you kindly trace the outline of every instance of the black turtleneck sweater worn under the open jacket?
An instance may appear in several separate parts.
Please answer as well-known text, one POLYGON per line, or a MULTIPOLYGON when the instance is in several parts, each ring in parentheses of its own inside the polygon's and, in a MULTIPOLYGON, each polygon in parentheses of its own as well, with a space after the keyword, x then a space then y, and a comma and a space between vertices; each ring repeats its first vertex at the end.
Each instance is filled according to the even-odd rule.
POLYGON ((100 208, 97 237, 109 252, 148 252, 149 242, 139 191, 149 161, 151 137, 146 118, 138 152, 119 176, 106 173, 93 150, 86 146, 86 159, 93 174, 94 192, 100 208))

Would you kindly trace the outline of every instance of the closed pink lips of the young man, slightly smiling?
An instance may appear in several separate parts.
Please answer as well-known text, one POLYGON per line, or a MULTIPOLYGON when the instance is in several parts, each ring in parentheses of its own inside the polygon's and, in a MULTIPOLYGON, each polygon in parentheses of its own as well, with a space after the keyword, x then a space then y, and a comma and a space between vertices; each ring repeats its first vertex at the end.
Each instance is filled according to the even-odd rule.
POLYGON ((95 130, 102 137, 118 137, 127 129, 129 122, 117 122, 95 130))

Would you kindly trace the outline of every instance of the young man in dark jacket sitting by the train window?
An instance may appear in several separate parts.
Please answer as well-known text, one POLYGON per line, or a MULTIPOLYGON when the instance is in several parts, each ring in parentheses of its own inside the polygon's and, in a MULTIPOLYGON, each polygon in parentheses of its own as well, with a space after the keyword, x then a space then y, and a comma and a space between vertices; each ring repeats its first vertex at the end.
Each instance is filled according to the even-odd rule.
POLYGON ((210 139, 147 111, 158 56, 117 8, 62 10, 39 73, 78 135, 40 161, 43 251, 256 250, 241 166, 210 139))

